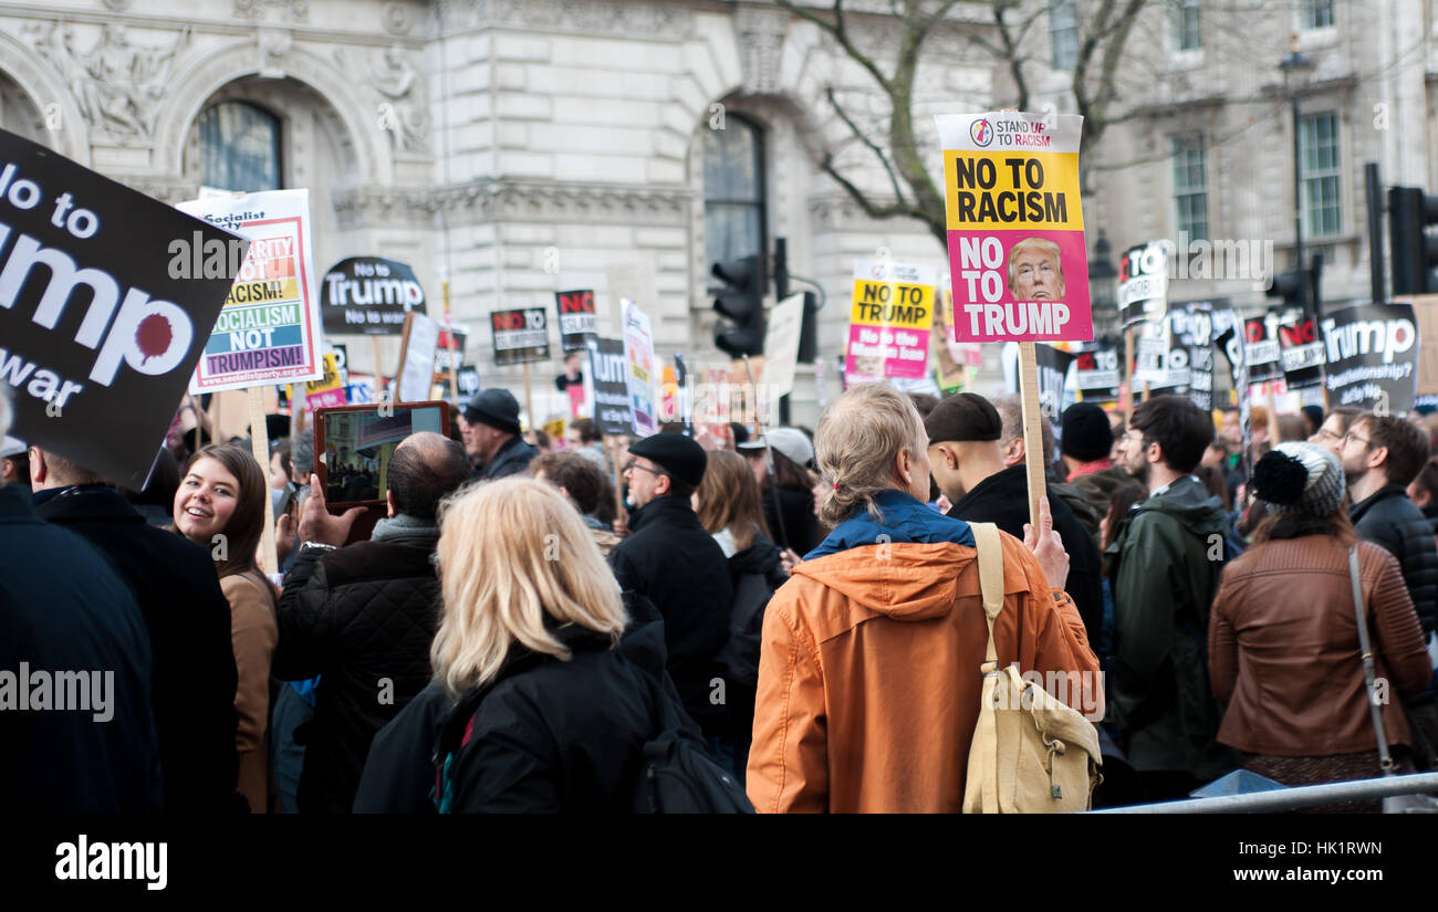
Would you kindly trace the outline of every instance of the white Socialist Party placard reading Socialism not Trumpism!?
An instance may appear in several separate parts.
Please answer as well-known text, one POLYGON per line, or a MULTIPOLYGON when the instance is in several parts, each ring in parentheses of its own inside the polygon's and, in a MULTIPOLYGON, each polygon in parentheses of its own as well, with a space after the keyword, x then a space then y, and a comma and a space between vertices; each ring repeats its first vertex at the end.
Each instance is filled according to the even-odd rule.
POLYGON ((250 238, 190 392, 315 381, 324 375, 309 191, 206 197, 175 208, 250 238))

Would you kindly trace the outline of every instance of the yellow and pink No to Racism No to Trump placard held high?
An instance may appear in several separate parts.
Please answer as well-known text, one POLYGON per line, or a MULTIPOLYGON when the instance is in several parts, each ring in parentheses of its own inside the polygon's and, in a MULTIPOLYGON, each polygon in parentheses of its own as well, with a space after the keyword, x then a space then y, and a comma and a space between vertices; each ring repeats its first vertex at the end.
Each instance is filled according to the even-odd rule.
POLYGON ((1083 118, 939 115, 956 342, 1093 339, 1083 118))

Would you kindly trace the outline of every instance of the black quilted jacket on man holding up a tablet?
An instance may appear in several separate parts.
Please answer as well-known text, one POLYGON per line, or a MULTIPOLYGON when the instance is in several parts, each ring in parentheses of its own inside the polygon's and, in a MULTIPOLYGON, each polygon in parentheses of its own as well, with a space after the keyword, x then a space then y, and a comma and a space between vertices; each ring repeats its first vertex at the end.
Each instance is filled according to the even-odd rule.
POLYGON ((273 674, 321 675, 315 717, 296 730, 305 747, 302 813, 348 813, 370 743, 430 681, 440 622, 434 531, 305 549, 279 602, 273 674))

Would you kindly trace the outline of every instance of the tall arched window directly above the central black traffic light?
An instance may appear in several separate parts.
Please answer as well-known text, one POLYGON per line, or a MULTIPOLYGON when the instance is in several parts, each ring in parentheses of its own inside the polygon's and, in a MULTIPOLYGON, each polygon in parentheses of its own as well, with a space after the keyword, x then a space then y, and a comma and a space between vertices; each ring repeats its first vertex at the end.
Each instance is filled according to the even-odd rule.
POLYGON ((705 256, 709 263, 764 253, 764 132, 729 113, 705 129, 705 256))

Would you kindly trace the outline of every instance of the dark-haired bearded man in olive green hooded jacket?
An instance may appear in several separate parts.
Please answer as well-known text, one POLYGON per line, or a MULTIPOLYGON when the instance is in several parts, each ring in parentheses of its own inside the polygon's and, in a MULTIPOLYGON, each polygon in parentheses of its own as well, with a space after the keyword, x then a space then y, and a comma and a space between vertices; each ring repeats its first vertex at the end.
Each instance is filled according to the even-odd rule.
POLYGON ((1150 494, 1106 552, 1117 641, 1107 721, 1148 800, 1183 797, 1235 766, 1215 741, 1205 642, 1224 566, 1224 506, 1191 474, 1212 437, 1202 409, 1159 396, 1135 409, 1120 445, 1150 494))

